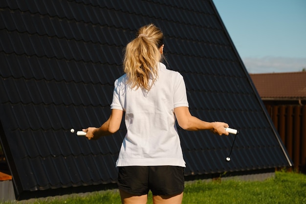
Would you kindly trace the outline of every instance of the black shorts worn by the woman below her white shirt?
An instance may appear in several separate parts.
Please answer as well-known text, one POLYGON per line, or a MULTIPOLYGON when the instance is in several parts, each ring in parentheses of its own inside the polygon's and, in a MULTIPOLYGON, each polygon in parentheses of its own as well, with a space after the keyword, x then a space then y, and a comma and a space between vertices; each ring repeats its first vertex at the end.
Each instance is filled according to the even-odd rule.
POLYGON ((119 167, 118 188, 141 196, 168 196, 184 191, 184 167, 181 166, 122 166, 119 167))

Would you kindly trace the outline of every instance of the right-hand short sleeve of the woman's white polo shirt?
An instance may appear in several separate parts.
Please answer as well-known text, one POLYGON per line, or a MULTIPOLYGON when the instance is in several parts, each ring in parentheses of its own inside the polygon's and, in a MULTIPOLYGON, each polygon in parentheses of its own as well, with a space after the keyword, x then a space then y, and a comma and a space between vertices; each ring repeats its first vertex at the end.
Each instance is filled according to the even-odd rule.
POLYGON ((175 80, 173 101, 174 108, 182 106, 189 107, 185 81, 183 76, 178 72, 175 80))

